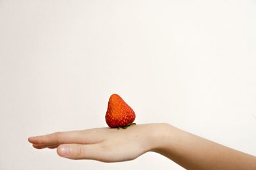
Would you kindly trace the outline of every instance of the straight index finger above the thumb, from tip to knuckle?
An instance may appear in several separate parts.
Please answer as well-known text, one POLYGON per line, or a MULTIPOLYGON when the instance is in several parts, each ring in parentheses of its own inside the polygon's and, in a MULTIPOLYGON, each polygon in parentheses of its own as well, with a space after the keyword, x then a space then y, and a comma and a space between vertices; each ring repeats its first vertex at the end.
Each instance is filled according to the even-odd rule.
POLYGON ((92 144, 103 140, 106 129, 88 129, 85 131, 55 132, 44 136, 30 137, 28 141, 34 144, 54 145, 56 143, 92 144))

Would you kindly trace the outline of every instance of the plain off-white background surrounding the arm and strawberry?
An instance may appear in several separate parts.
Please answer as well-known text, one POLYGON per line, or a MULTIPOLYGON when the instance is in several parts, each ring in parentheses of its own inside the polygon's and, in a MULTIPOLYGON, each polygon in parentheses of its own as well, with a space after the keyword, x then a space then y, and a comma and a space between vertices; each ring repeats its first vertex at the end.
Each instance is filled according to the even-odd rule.
POLYGON ((106 164, 28 143, 106 127, 113 93, 138 124, 256 155, 255 30, 250 1, 0 0, 0 169, 182 169, 156 153, 106 164))

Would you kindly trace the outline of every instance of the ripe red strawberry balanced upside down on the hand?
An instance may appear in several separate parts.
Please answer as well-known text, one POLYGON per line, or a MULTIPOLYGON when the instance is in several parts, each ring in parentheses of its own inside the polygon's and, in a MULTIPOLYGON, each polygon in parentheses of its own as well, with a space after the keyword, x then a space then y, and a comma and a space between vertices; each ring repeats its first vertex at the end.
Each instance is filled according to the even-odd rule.
POLYGON ((127 127, 135 120, 135 113, 118 94, 112 94, 105 118, 109 127, 127 127))

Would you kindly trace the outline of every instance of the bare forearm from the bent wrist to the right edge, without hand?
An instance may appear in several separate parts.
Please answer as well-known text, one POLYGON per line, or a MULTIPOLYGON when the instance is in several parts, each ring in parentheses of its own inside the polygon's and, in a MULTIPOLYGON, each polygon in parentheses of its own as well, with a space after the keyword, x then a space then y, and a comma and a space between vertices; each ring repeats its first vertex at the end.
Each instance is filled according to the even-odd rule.
POLYGON ((152 151, 186 169, 256 169, 256 157, 200 138, 172 125, 160 125, 152 151))

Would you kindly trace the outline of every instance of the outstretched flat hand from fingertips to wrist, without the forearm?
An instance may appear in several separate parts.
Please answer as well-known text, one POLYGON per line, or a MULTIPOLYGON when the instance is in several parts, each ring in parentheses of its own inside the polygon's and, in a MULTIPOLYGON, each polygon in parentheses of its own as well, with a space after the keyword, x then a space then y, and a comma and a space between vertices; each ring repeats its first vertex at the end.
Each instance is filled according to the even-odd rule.
POLYGON ((161 124, 132 125, 127 129, 95 128, 30 137, 33 147, 57 148, 61 157, 120 162, 136 159, 154 149, 154 134, 161 124))

